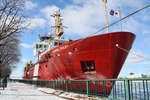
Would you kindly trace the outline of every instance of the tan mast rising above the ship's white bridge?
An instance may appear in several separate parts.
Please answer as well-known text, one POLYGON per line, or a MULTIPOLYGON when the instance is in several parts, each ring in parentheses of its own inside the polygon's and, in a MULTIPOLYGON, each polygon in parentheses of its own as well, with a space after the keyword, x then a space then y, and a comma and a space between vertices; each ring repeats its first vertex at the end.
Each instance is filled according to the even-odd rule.
POLYGON ((55 26, 52 26, 52 28, 55 28, 56 39, 59 39, 64 33, 62 19, 60 17, 61 15, 60 15, 60 9, 59 9, 58 11, 56 11, 56 14, 55 14, 55 26))

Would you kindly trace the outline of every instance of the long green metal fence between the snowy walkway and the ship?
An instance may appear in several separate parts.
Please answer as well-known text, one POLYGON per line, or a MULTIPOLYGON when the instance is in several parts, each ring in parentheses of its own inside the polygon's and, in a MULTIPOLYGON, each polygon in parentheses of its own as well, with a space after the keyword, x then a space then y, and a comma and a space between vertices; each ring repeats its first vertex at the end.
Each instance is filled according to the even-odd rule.
POLYGON ((119 100, 150 100, 150 78, 48 81, 11 79, 11 81, 94 97, 108 97, 119 100))

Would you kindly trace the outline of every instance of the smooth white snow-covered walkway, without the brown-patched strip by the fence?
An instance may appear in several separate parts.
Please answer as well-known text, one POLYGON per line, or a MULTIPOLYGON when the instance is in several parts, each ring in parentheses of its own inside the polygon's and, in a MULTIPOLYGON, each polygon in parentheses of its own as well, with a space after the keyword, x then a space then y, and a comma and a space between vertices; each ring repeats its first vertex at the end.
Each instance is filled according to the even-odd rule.
POLYGON ((0 100, 66 100, 55 95, 46 94, 36 87, 23 83, 8 83, 5 90, 0 88, 0 100))

